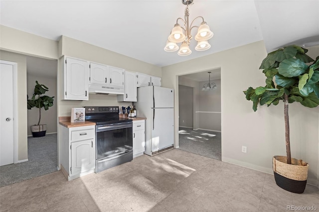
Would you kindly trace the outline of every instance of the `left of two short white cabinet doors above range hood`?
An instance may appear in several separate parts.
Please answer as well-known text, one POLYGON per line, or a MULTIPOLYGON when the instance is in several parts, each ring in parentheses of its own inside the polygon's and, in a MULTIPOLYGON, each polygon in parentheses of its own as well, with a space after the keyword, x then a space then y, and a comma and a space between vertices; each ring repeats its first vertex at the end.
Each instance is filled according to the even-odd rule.
POLYGON ((110 81, 108 78, 108 67, 90 63, 90 83, 91 84, 107 84, 110 81))

